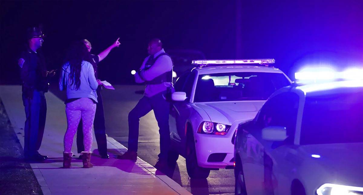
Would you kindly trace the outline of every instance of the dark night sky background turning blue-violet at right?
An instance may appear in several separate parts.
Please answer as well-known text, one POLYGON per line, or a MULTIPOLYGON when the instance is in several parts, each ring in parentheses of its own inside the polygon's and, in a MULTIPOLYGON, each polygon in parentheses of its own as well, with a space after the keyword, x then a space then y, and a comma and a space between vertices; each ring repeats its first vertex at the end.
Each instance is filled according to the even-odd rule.
POLYGON ((1 1, 0 7, 0 84, 20 83, 17 56, 32 25, 46 34, 49 70, 62 65, 72 41, 86 38, 98 54, 120 37, 121 46, 99 64, 100 78, 113 84, 134 83, 130 71, 154 37, 166 51, 195 49, 207 59, 275 58, 291 79, 304 65, 363 64, 361 0, 1 1))

